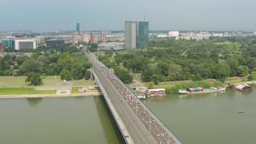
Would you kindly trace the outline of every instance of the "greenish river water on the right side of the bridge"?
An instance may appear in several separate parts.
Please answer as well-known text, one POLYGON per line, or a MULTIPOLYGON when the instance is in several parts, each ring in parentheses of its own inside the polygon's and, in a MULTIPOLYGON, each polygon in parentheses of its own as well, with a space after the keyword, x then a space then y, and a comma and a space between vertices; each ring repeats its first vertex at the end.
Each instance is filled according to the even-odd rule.
POLYGON ((148 99, 148 107, 184 143, 255 143, 256 92, 170 94, 148 99), (238 113, 238 110, 245 113, 238 113))

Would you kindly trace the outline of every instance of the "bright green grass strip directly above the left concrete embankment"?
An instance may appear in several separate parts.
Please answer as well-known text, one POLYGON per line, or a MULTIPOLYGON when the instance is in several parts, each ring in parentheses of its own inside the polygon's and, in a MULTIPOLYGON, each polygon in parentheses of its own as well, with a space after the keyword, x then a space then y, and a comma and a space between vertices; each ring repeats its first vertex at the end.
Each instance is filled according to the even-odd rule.
POLYGON ((56 90, 44 90, 44 91, 36 91, 34 88, 27 87, 0 87, 0 95, 9 94, 55 94, 56 90))

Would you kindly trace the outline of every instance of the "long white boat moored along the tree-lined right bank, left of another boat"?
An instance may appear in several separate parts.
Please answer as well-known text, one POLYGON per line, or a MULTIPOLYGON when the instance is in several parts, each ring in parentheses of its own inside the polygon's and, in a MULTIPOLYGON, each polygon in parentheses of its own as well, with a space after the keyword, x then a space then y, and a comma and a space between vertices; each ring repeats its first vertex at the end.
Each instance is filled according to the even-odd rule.
POLYGON ((188 88, 188 89, 179 89, 179 94, 194 94, 194 93, 212 93, 225 91, 226 87, 210 87, 210 89, 203 89, 201 87, 188 88))

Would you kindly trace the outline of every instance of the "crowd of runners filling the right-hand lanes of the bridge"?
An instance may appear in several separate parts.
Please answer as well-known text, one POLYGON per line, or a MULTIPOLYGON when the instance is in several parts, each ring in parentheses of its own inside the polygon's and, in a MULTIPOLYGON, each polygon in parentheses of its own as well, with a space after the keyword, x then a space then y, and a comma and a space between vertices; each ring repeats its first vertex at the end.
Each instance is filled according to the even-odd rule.
MULTIPOLYGON (((159 134, 155 134, 160 140, 159 143, 173 143, 174 141, 168 136, 166 131, 161 128, 159 123, 156 122, 152 116, 150 116, 150 114, 144 108, 144 105, 141 105, 141 103, 139 103, 138 98, 129 91, 129 89, 124 85, 124 83, 121 82, 117 78, 117 76, 115 76, 113 72, 106 67, 106 65, 98 61, 92 53, 88 53, 88 57, 90 57, 90 59, 97 64, 101 71, 103 71, 103 73, 108 77, 110 82, 112 82, 115 88, 117 88, 118 92, 122 95, 126 103, 131 107, 133 112, 135 112, 137 117, 143 122, 146 129, 160 129, 158 130, 159 134)), ((174 144, 176 144, 176 142, 174 142, 174 144)))

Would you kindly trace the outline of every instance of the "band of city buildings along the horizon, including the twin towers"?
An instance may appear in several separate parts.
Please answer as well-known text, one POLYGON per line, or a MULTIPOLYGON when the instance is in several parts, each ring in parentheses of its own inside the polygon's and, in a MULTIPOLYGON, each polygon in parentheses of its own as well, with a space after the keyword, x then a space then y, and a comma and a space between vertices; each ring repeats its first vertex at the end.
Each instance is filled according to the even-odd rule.
MULTIPOLYGON (((80 31, 80 23, 76 24, 76 31, 19 31, 0 33, 1 55, 4 49, 11 47, 15 50, 37 49, 38 45, 45 45, 48 48, 62 47, 67 43, 73 45, 80 42, 99 43, 100 50, 125 50, 147 49, 149 38, 175 38, 176 40, 203 40, 210 37, 247 36, 242 32, 178 32, 165 31, 164 33, 149 33, 148 21, 125 21, 124 32, 112 31, 80 31), (10 37, 10 35, 12 35, 10 37)), ((253 32, 249 35, 256 35, 253 32)))

